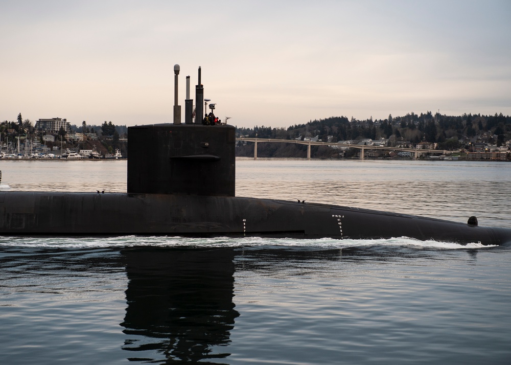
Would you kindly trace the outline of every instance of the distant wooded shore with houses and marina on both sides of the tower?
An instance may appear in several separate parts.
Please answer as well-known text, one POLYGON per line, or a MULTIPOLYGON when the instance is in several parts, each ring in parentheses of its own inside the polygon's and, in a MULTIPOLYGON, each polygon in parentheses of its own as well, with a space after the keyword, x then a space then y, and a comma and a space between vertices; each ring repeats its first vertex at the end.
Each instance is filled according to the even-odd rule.
MULTIPOLYGON (((413 112, 384 120, 331 117, 288 128, 237 127, 237 138, 299 140, 346 145, 417 148, 448 151, 445 157, 478 161, 511 161, 511 117, 446 116, 413 112)), ((71 124, 65 118, 22 119, 0 122, 0 158, 125 158, 128 134, 125 125, 104 122, 71 124)), ((253 156, 253 144, 238 141, 237 156, 253 156)), ((264 143, 259 157, 305 157, 307 146, 264 143)), ((357 158, 360 149, 323 145, 311 148, 312 158, 357 158)), ((436 154, 438 157, 438 154, 436 154)), ((411 158, 405 151, 370 149, 365 158, 411 158)), ((421 158, 435 158, 421 154, 421 158)))

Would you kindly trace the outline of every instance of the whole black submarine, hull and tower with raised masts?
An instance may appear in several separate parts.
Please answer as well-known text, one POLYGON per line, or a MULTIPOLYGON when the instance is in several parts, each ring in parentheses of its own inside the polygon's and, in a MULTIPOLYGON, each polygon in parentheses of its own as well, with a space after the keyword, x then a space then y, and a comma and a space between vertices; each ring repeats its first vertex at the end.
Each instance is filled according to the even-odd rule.
MULTIPOLYGON (((127 193, 0 191, 4 236, 184 236, 511 243, 511 229, 400 213, 237 197, 236 128, 204 125, 201 68, 184 123, 174 66, 173 123, 128 127, 127 193)), ((211 106, 210 106, 211 107, 211 106)))

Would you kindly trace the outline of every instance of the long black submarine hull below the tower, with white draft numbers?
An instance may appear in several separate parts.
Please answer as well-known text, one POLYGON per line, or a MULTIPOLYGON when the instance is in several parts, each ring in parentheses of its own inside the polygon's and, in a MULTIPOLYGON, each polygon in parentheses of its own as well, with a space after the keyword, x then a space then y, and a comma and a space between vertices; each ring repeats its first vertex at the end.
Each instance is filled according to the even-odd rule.
POLYGON ((335 239, 409 237, 511 243, 511 229, 329 204, 229 196, 0 193, 0 234, 227 236, 335 239))

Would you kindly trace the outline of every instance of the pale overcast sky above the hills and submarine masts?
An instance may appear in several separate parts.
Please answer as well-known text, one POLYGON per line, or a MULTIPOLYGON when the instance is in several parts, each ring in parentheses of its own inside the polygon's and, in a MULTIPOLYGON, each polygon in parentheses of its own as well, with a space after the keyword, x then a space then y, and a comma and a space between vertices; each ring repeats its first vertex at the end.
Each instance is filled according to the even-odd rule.
POLYGON ((511 115, 511 1, 0 0, 0 120, 229 124, 511 115), (183 117, 184 120, 184 117, 183 117))

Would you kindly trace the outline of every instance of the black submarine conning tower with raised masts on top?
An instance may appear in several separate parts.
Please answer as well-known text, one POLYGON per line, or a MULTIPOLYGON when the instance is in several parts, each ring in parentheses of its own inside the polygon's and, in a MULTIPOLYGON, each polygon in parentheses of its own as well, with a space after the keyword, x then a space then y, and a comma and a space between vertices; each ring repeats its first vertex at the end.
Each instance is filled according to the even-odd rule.
MULTIPOLYGON (((202 93, 200 67, 199 86, 202 93)), ((235 131, 230 125, 202 125, 201 114, 194 123, 182 124, 176 113, 174 123, 128 127, 128 193, 235 196, 235 131)))

